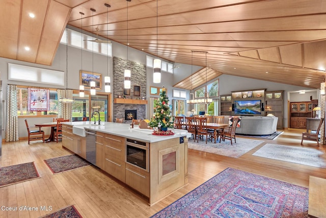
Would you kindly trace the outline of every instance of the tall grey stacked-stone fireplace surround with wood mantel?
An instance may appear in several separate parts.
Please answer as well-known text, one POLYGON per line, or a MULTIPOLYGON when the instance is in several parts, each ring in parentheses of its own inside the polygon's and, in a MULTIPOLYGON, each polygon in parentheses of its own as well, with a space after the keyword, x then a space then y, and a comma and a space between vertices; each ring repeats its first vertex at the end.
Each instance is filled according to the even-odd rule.
MULTIPOLYGON (((113 57, 113 98, 123 96, 124 69, 127 66, 127 60, 113 57)), ((130 95, 125 95, 127 99, 146 99, 146 65, 128 61, 128 68, 131 70, 131 89, 130 95), (133 86, 141 87, 141 96, 133 96, 133 86)), ((123 118, 124 123, 130 123, 131 120, 125 120, 125 110, 137 110, 138 119, 146 119, 146 105, 140 104, 113 104, 113 122, 116 118, 123 118)))

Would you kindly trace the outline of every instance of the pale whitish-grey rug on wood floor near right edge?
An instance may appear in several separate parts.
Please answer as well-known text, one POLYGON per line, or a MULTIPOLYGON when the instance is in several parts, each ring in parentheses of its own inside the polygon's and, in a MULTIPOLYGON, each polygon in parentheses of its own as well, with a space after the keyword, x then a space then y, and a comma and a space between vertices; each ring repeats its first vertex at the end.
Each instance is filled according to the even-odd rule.
POLYGON ((308 166, 326 168, 326 161, 324 158, 320 157, 324 154, 325 153, 323 151, 311 148, 282 146, 281 144, 267 143, 253 155, 292 163, 299 163, 308 166))

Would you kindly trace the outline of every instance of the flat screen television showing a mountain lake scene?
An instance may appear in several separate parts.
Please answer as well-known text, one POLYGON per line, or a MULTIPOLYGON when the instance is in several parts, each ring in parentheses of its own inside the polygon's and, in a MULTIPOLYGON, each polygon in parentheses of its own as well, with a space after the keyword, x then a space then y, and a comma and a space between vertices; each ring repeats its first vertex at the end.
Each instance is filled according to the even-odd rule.
POLYGON ((261 100, 234 101, 234 114, 254 115, 261 114, 261 100))

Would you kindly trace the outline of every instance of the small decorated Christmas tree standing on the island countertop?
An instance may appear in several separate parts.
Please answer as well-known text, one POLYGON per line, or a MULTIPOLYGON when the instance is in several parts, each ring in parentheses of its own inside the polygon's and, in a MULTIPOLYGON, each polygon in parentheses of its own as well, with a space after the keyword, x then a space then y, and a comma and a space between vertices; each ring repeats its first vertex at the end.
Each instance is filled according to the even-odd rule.
POLYGON ((159 93, 159 101, 154 106, 154 114, 149 122, 150 127, 158 127, 159 130, 166 130, 166 128, 173 128, 174 120, 171 117, 171 110, 169 107, 169 97, 164 86, 159 93))

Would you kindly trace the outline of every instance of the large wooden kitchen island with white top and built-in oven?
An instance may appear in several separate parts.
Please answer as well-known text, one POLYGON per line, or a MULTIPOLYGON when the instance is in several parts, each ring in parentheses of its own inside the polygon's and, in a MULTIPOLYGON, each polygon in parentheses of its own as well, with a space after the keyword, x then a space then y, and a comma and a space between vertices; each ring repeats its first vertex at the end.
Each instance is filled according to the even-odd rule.
POLYGON ((187 131, 174 132, 157 136, 129 124, 67 122, 62 145, 85 159, 96 156, 90 162, 142 193, 153 205, 188 183, 187 131), (93 138, 95 151, 89 149, 94 147, 93 138))

